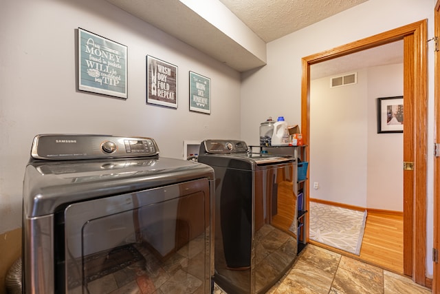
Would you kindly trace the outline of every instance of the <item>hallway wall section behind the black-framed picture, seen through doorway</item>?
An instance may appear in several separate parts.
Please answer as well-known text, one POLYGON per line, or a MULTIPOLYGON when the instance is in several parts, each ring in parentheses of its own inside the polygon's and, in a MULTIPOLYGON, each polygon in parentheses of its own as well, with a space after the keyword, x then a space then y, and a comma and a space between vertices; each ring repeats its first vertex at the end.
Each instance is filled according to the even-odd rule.
POLYGON ((368 70, 366 207, 404 211, 404 134, 377 134, 377 98, 404 95, 404 65, 368 70))

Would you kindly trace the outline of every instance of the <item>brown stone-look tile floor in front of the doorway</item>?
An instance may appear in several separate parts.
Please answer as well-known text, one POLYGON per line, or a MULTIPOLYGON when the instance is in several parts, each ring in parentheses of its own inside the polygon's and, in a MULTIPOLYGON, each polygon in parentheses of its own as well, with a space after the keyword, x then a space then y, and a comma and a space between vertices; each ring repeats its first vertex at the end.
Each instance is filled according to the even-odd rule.
MULTIPOLYGON (((221 288, 214 294, 224 294, 221 288)), ((427 294, 430 289, 339 253, 308 244, 292 269, 267 294, 427 294)))

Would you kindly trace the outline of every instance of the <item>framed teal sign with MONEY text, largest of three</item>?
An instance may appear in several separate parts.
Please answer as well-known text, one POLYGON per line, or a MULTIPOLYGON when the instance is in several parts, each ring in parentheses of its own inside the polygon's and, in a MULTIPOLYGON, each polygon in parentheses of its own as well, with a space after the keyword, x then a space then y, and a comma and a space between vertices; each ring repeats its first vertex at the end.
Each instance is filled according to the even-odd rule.
POLYGON ((127 98, 127 48, 78 28, 79 90, 127 98))

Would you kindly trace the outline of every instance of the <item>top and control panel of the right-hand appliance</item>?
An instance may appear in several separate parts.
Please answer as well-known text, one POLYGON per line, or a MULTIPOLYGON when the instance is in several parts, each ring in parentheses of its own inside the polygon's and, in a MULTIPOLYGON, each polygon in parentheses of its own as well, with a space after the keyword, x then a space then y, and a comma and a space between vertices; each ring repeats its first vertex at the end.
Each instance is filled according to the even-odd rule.
POLYGON ((204 140, 197 160, 213 167, 249 170, 295 162, 292 157, 249 153, 248 145, 241 140, 204 140))

